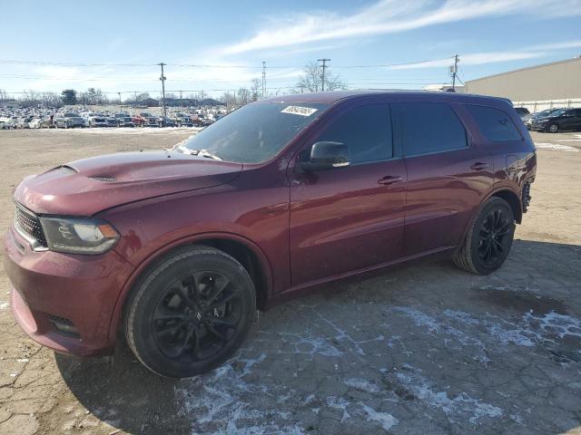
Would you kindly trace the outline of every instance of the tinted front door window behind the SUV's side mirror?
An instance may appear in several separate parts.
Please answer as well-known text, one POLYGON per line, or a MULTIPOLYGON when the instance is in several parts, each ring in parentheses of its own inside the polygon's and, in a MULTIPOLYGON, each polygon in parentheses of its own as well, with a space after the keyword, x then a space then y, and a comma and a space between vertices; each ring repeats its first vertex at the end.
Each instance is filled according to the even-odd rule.
POLYGON ((347 145, 351 164, 391 158, 389 104, 368 104, 344 112, 317 139, 322 140, 347 145))

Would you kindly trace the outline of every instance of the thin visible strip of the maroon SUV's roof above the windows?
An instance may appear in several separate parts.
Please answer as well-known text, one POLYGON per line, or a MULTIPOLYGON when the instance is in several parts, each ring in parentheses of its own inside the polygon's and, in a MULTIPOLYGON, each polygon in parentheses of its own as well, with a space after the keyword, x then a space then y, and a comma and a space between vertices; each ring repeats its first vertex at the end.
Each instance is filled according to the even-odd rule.
POLYGON ((261 102, 319 102, 322 104, 333 104, 342 100, 369 96, 369 95, 417 95, 428 96, 434 101, 466 101, 466 100, 501 100, 508 102, 505 98, 491 97, 488 95, 477 95, 470 93, 456 92, 434 92, 434 91, 406 91, 391 89, 358 89, 350 91, 332 91, 332 92, 309 92, 309 93, 292 93, 289 95, 280 95, 271 97, 261 102))

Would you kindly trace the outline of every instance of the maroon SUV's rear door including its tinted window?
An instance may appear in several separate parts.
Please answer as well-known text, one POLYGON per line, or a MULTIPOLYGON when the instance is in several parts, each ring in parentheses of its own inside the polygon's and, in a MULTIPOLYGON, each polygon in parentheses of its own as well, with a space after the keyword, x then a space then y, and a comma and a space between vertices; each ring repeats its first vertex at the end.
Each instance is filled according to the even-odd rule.
POLYGON ((456 246, 494 182, 492 160, 468 133, 460 105, 409 101, 394 109, 408 171, 404 254, 456 246))

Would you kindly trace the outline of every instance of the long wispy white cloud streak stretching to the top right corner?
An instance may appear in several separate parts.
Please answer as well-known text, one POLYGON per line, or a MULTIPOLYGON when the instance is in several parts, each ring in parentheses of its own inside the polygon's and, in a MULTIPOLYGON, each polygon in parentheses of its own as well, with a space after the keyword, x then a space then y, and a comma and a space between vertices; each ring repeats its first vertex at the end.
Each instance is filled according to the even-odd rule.
POLYGON ((350 15, 319 11, 271 18, 265 28, 251 38, 224 46, 221 52, 247 53, 512 14, 546 18, 581 14, 581 0, 379 0, 350 15))

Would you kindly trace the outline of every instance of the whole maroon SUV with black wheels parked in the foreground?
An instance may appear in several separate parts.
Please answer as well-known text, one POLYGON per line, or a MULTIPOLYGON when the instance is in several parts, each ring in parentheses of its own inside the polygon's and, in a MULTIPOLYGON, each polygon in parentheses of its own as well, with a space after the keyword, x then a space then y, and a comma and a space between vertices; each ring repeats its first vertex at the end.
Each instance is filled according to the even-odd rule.
POLYGON ((254 102, 172 150, 78 160, 15 189, 16 321, 58 352, 123 330, 172 377, 224 362, 265 309, 433 254, 487 274, 527 209, 535 147, 509 102, 329 92, 254 102))

